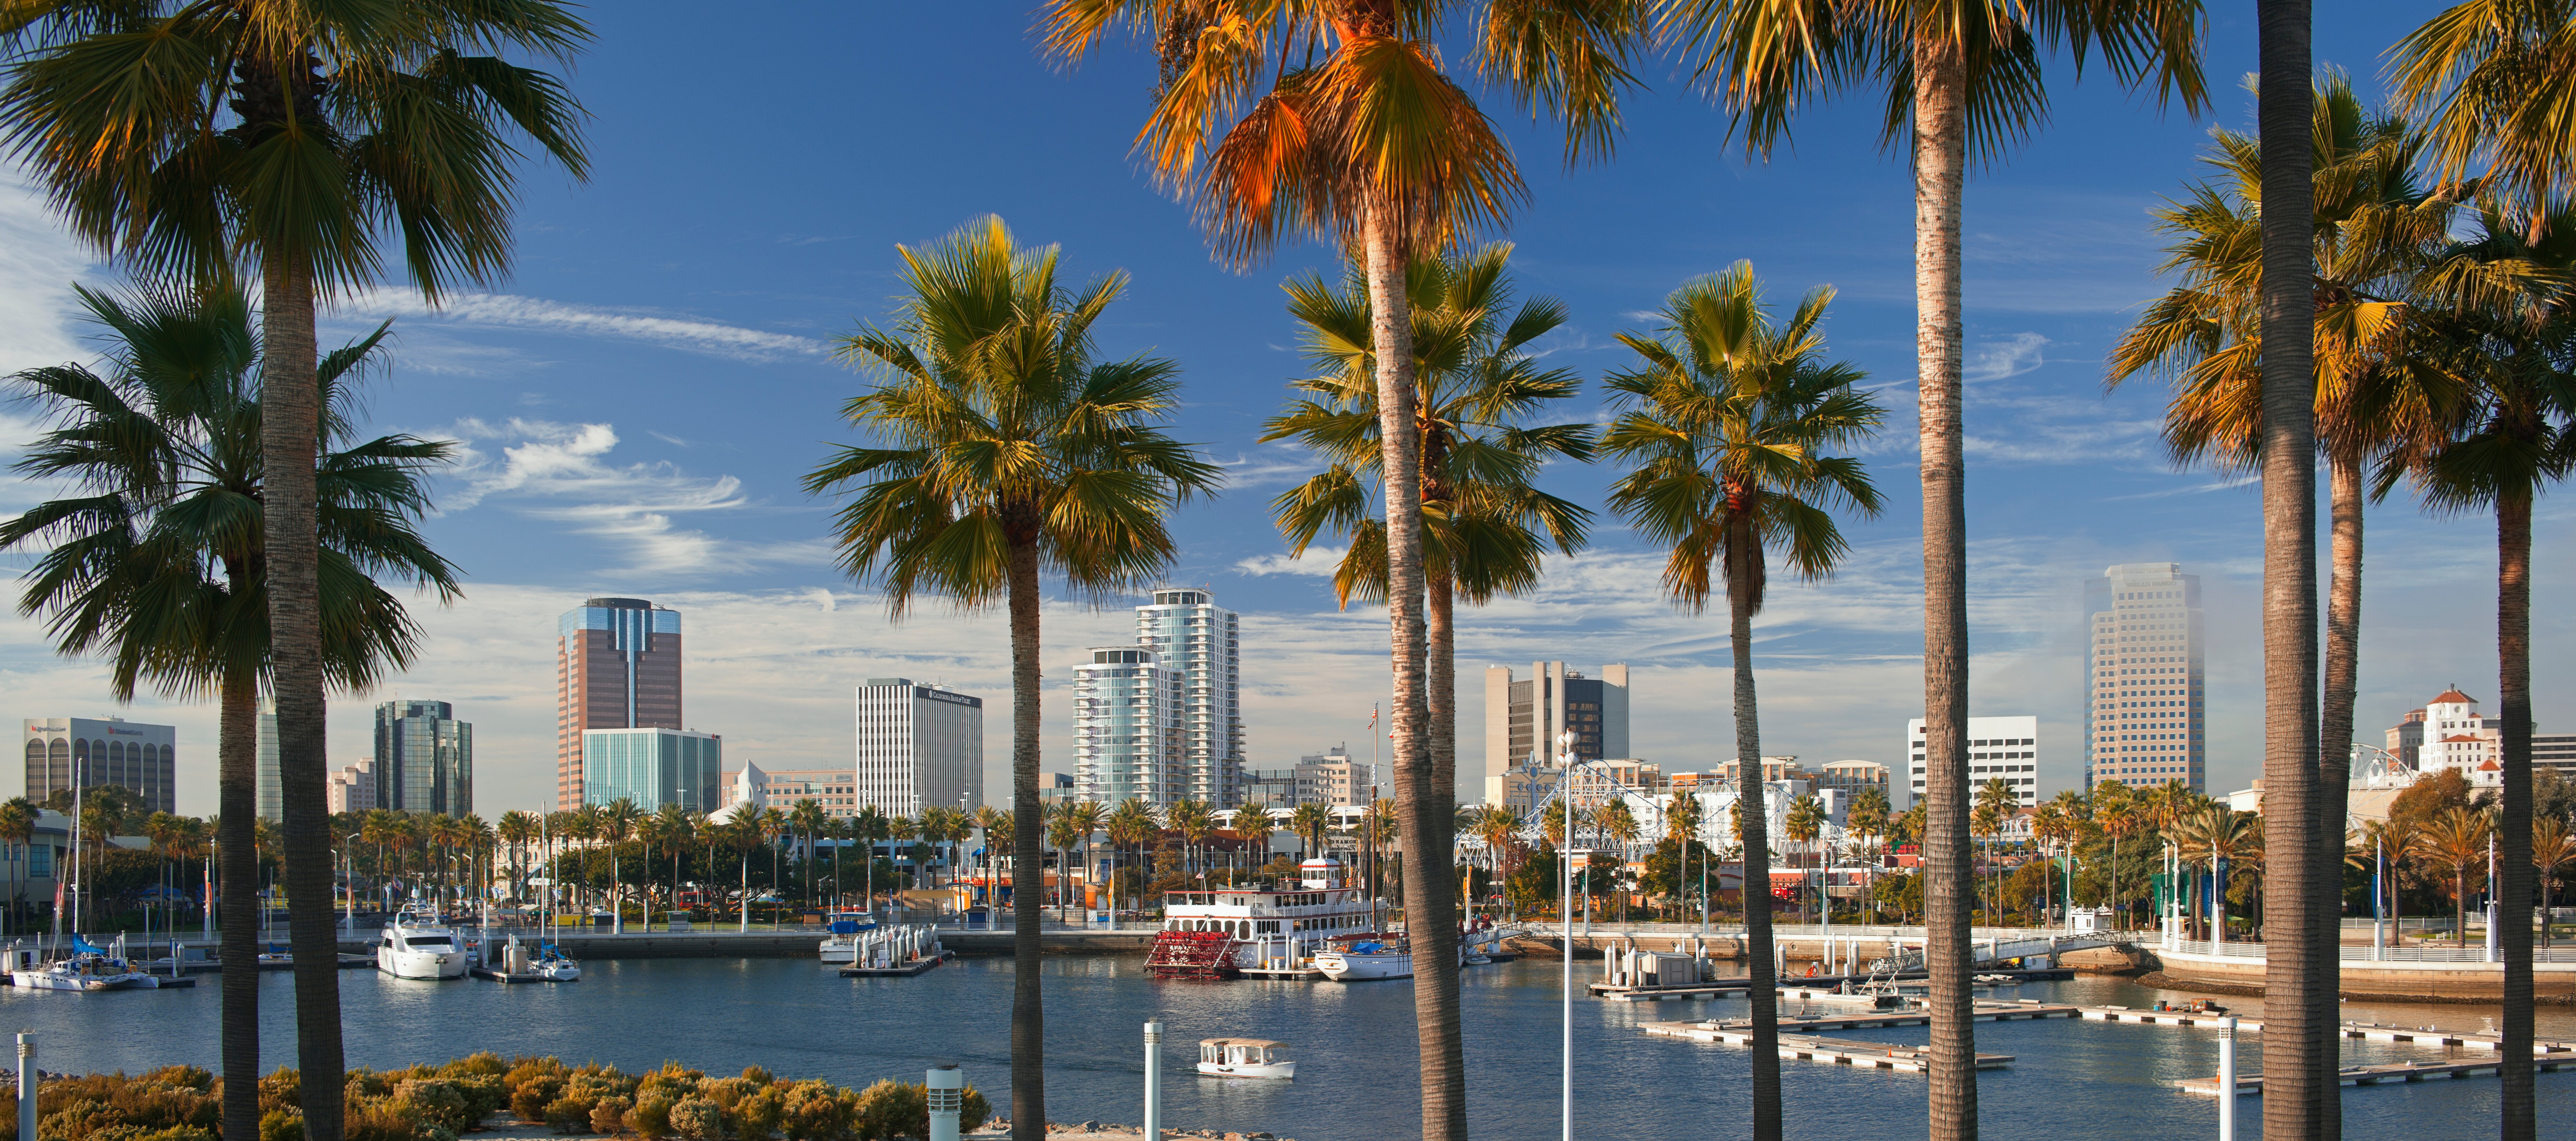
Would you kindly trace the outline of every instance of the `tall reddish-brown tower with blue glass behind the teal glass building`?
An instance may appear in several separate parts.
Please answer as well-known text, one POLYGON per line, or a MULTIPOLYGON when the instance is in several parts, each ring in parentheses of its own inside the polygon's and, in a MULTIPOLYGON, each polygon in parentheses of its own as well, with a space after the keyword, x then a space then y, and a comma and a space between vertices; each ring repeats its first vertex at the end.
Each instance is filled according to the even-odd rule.
MULTIPOLYGON (((592 598, 556 621, 554 806, 580 809, 582 734, 680 729, 680 610, 641 598, 592 598)), ((384 788, 384 775, 376 775, 384 788)))

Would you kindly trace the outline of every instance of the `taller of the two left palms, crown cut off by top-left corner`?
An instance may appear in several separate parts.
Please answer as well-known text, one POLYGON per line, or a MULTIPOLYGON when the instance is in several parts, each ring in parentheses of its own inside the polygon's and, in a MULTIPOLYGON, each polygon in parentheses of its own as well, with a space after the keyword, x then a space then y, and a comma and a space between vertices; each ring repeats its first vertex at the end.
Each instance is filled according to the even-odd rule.
POLYGON ((258 263, 273 415, 263 525, 276 626, 281 786, 296 940, 307 1136, 340 1141, 340 1004, 322 755, 332 683, 317 443, 330 422, 314 299, 374 281, 384 240, 440 299, 510 265, 510 129, 582 178, 580 106, 546 72, 587 28, 551 0, 505 5, 131 5, 75 0, 15 21, 0 116, 57 214, 144 276, 209 281, 258 263), (131 67, 137 41, 155 64, 131 67), (489 57, 466 52, 492 52, 489 57), (510 59, 505 59, 510 57, 510 59), (219 124, 227 124, 219 129, 219 124))

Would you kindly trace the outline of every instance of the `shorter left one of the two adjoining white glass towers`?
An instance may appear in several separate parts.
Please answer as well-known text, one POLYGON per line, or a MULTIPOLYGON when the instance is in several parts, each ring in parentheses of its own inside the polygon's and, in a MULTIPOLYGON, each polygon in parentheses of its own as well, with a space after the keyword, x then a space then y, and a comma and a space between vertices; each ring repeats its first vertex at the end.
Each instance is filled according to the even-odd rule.
POLYGON ((1180 778, 1182 675, 1141 646, 1092 646, 1074 667, 1074 793, 1172 804, 1180 778))

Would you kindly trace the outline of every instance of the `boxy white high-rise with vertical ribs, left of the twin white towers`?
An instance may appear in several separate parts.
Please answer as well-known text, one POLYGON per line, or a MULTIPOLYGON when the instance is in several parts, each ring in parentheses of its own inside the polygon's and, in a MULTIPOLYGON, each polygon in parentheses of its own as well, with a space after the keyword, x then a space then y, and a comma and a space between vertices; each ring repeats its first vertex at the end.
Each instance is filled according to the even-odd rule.
POLYGON ((868 677, 858 688, 855 773, 850 798, 889 816, 981 809, 984 698, 912 677, 868 677))

